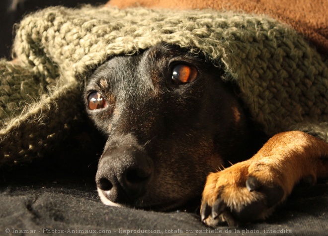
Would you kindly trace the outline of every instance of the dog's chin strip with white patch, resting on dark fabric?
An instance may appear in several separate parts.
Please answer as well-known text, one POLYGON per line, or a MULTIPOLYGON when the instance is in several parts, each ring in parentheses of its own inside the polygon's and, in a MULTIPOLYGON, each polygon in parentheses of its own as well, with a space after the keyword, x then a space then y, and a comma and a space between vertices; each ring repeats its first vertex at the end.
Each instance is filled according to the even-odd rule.
POLYGON ((110 201, 99 188, 97 190, 100 200, 102 201, 103 204, 107 206, 129 207, 129 208, 153 210, 153 211, 170 211, 170 210, 177 209, 178 207, 182 206, 185 203, 184 201, 171 201, 171 202, 145 204, 142 200, 140 200, 140 203, 137 202, 135 205, 118 204, 110 201))

